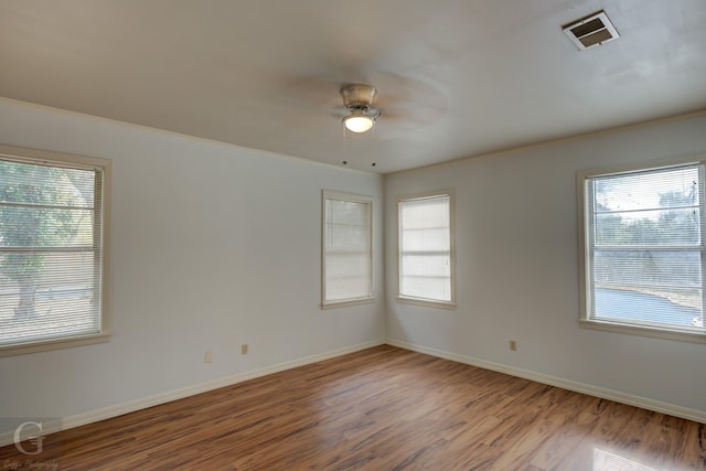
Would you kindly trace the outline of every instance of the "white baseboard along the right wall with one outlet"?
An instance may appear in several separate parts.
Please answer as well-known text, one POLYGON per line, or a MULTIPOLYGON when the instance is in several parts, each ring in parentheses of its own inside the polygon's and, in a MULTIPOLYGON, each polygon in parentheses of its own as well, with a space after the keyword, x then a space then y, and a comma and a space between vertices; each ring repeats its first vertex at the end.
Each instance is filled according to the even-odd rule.
POLYGON ((706 411, 704 410, 689 409, 687 407, 675 406, 673 404, 662 403, 660 400, 653 400, 646 397, 634 396, 632 394, 625 394, 619 390, 606 389, 606 388, 592 386, 586 383, 578 383, 570 379, 564 379, 557 376, 545 375, 545 374, 532 372, 528 370, 516 368, 514 366, 502 365, 500 363, 488 362, 485 360, 459 355, 459 354, 446 352, 442 350, 429 349, 427 346, 415 345, 411 343, 407 343, 407 342, 403 342, 394 339, 387 339, 385 343, 387 343, 388 345, 398 346, 400 349, 410 350, 413 352, 425 353, 427 355, 437 356, 439 358, 450 360, 458 363, 464 363, 467 365, 478 366, 481 368, 491 370, 494 372, 504 373, 512 376, 522 377, 525 379, 531 379, 531 381, 546 384, 549 386, 557 386, 563 389, 587 394, 589 396, 599 397, 601 399, 614 400, 616 403, 641 407, 643 409, 653 410, 655 413, 667 414, 671 416, 681 417, 684 419, 706 424, 706 411))

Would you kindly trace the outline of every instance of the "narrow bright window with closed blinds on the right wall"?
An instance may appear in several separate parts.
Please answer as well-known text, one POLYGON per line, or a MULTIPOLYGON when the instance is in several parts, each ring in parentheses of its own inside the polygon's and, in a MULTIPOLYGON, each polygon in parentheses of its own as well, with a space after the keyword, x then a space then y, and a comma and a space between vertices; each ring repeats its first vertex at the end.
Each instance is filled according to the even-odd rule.
POLYGON ((398 200, 402 301, 453 307, 451 192, 398 200))

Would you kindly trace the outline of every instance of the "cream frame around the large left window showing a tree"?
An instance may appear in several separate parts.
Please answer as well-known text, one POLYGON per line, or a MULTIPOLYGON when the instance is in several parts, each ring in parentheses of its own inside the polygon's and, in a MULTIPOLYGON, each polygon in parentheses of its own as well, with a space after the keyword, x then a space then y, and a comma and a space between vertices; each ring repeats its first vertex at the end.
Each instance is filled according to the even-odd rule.
POLYGON ((0 357, 92 345, 108 342, 109 307, 110 307, 110 221, 111 221, 111 184, 113 161, 95 157, 60 153, 53 151, 1 146, 0 158, 28 164, 44 164, 69 169, 93 170, 100 176, 100 310, 99 331, 87 334, 66 334, 51 339, 28 340, 0 345, 0 357))

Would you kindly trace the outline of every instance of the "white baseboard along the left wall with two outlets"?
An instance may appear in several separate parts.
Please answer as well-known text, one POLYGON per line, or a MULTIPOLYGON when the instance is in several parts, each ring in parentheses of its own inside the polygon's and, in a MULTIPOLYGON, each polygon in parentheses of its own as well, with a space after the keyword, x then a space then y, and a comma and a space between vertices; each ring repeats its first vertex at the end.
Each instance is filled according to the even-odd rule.
MULTIPOLYGON (((253 370, 249 372, 238 373, 236 375, 213 379, 206 383, 200 383, 192 386, 186 386, 179 389, 156 394, 153 396, 148 396, 148 397, 143 397, 136 400, 129 400, 122 404, 116 404, 115 406, 104 407, 96 410, 89 410, 87 413, 64 417, 61 420, 43 422, 42 435, 54 433, 61 430, 67 430, 69 428, 81 427, 83 425, 97 422, 99 420, 118 417, 124 414, 133 413, 136 410, 146 409, 148 407, 159 406, 160 404, 171 403, 172 400, 182 399, 184 397, 194 396, 201 393, 206 393, 208 390, 217 389, 220 387, 231 386, 237 383, 243 383, 248 379, 254 379, 260 376, 267 376, 272 373, 291 370, 298 366, 303 366, 311 363, 317 363, 324 360, 333 358, 336 356, 346 355, 349 353, 359 352, 361 350, 370 349, 373 346, 383 345, 384 343, 385 343, 384 340, 376 340, 376 341, 361 343, 357 345, 351 345, 343 349, 333 350, 330 352, 304 356, 304 357, 292 360, 289 362, 278 363, 276 365, 266 366, 266 367, 253 370)), ((28 432, 36 432, 36 428, 28 427, 28 432)), ((28 437, 23 437, 23 436, 19 437, 20 440, 24 440, 26 438, 28 437)), ((4 447, 6 445, 11 445, 14 441, 15 441, 14 430, 0 431, 0 447, 4 447)))

